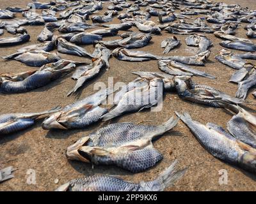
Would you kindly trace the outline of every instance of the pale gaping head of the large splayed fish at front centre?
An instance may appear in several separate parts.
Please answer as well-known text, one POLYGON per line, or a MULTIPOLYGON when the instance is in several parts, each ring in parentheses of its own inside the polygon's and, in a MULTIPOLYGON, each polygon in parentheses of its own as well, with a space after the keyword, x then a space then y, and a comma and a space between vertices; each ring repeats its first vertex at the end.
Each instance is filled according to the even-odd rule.
MULTIPOLYGON (((89 139, 89 136, 84 136, 83 138, 77 140, 77 142, 73 145, 70 145, 67 148, 66 157, 71 160, 79 160, 85 163, 90 163, 89 159, 86 159, 86 157, 81 155, 81 152, 90 154, 90 150, 87 151, 85 146, 89 139), (85 147, 85 149, 83 147, 85 147)), ((88 147, 88 149, 90 149, 90 147, 88 147)))

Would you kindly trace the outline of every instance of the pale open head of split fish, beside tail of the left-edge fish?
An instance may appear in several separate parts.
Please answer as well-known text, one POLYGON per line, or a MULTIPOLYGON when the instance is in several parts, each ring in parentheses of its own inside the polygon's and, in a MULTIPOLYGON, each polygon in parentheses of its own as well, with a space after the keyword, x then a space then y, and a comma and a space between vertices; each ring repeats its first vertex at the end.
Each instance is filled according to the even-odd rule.
POLYGON ((43 129, 67 129, 63 124, 58 122, 58 119, 61 116, 61 112, 56 112, 50 115, 49 117, 46 117, 44 121, 42 122, 42 128, 43 129))

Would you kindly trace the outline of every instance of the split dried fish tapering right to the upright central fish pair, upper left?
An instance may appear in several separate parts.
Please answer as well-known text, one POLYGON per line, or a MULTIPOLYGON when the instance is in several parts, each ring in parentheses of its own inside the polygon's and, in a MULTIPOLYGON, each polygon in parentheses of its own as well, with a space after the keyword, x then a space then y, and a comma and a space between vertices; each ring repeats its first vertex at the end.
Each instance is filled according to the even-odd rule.
POLYGON ((64 38, 58 38, 58 51, 63 54, 72 54, 72 55, 78 55, 80 57, 86 56, 86 57, 92 57, 92 54, 87 52, 84 48, 79 47, 73 43, 69 43, 64 38))

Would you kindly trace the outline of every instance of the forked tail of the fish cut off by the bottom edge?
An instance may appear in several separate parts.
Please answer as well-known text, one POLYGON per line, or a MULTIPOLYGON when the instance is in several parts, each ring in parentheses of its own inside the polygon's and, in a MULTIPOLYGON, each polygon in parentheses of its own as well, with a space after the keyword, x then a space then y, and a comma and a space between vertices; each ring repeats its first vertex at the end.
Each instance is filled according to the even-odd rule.
POLYGON ((188 168, 184 168, 183 170, 175 171, 174 168, 177 164, 177 159, 165 170, 163 173, 159 175, 156 179, 159 184, 161 184, 160 191, 163 191, 164 188, 172 186, 177 180, 179 180, 188 170, 188 168))

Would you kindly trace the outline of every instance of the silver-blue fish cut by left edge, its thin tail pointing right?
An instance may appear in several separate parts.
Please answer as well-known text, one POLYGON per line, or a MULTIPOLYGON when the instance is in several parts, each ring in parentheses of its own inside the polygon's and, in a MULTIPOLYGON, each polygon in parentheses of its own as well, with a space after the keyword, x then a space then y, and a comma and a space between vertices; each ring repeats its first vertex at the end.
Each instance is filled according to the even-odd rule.
POLYGON ((7 113, 0 115, 0 135, 15 133, 35 124, 35 119, 60 110, 60 106, 39 113, 7 113))

